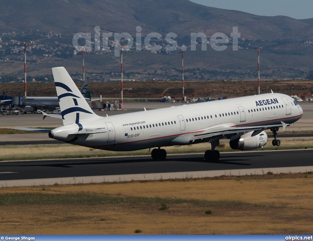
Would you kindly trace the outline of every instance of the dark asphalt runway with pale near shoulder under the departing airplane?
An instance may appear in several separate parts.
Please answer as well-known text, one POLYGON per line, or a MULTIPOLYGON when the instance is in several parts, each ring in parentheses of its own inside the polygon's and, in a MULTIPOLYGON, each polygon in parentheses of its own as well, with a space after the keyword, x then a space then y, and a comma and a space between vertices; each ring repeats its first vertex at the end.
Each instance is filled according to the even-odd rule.
POLYGON ((169 155, 166 161, 160 162, 152 161, 149 156, 1 162, 0 186, 13 185, 10 183, 23 186, 28 183, 25 180, 32 180, 31 185, 43 183, 47 185, 48 180, 52 180, 52 184, 57 182, 55 180, 64 180, 64 183, 69 183, 65 180, 76 181, 77 177, 84 177, 83 182, 87 183, 96 182, 99 177, 100 182, 109 181, 110 177, 114 177, 115 181, 126 180, 130 177, 135 180, 141 180, 141 177, 142 179, 162 179, 168 177, 168 173, 171 173, 170 178, 182 178, 186 176, 208 177, 212 176, 212 173, 223 175, 229 172, 233 175, 262 174, 259 173, 260 170, 264 170, 264 173, 268 171, 280 173, 286 170, 287 172, 305 172, 313 171, 312 156, 313 150, 309 149, 227 152, 221 153, 220 161, 217 163, 205 162, 203 154, 169 155), (302 169, 295 169, 295 167, 302 167, 302 169), (20 181, 10 182, 9 180, 20 181))

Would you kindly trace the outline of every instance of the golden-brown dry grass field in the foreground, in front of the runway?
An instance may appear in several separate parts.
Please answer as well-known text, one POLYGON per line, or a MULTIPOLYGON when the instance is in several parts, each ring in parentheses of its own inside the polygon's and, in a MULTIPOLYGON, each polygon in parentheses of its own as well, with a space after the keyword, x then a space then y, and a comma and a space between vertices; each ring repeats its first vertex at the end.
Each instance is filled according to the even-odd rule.
POLYGON ((302 173, 1 188, 0 232, 311 234, 312 186, 302 173))

